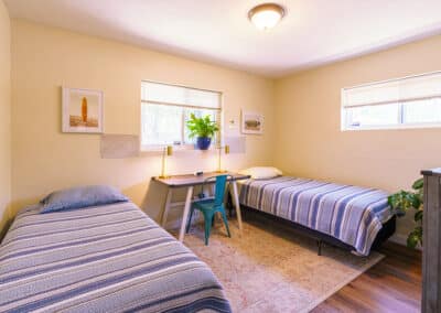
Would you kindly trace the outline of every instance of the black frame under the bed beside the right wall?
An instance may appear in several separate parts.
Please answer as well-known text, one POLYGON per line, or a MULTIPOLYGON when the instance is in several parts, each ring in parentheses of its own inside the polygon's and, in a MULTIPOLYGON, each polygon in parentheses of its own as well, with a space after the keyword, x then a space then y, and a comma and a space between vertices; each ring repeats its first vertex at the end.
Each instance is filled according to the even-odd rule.
MULTIPOLYGON (((281 218, 279 216, 276 216, 276 215, 272 215, 272 214, 269 214, 266 212, 261 212, 259 209, 248 207, 245 205, 240 205, 240 208, 241 208, 244 219, 247 219, 251 216, 270 219, 270 220, 277 222, 278 224, 288 226, 290 229, 294 229, 294 231, 302 233, 304 236, 316 240, 319 256, 322 255, 323 244, 329 244, 331 246, 338 247, 338 248, 342 248, 342 249, 345 249, 348 251, 355 250, 354 247, 338 240, 335 237, 332 237, 330 235, 311 229, 311 228, 300 225, 298 223, 294 223, 294 222, 281 218)), ((233 212, 234 212, 233 209, 229 211, 229 214, 232 215, 233 212)), ((372 250, 378 250, 380 248, 381 244, 385 242, 390 236, 394 235, 395 229, 396 229, 396 219, 397 219, 397 217, 394 215, 388 222, 383 224, 383 228, 378 231, 377 237, 375 238, 375 240, 372 245, 372 248, 370 248, 372 250)))

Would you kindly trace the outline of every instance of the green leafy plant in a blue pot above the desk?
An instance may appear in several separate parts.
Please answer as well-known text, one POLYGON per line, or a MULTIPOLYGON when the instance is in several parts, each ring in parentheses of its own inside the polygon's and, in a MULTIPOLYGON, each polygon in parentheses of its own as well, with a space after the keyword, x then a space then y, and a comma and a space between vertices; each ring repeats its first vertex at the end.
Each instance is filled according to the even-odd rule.
POLYGON ((219 131, 219 127, 209 116, 197 118, 194 114, 190 115, 186 127, 190 130, 190 138, 196 138, 196 147, 201 150, 207 150, 212 138, 219 131))

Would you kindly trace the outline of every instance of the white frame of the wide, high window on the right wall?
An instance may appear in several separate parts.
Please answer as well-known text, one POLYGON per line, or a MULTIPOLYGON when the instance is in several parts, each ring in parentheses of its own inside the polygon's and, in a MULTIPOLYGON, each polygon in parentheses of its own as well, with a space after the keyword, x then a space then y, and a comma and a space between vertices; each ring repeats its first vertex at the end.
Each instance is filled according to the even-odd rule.
POLYGON ((430 100, 430 99, 440 99, 441 101, 441 94, 437 95, 428 95, 426 97, 418 97, 418 98, 408 98, 397 101, 384 101, 384 102, 373 102, 373 104, 365 104, 365 105, 355 105, 355 106, 346 106, 345 105, 345 91, 354 88, 359 87, 368 87, 374 85, 400 82, 406 79, 412 79, 422 76, 430 76, 430 75, 440 75, 441 71, 423 73, 419 75, 411 75, 405 76, 400 78, 387 79, 387 80, 379 80, 352 87, 345 87, 341 89, 341 130, 342 131, 361 131, 361 130, 387 130, 387 129, 418 129, 418 128, 441 128, 441 121, 438 122, 418 122, 418 123, 408 123, 405 122, 404 116, 404 106, 406 102, 417 101, 417 100, 430 100), (353 127, 349 125, 351 118, 351 110, 347 108, 351 107, 363 107, 363 106, 380 106, 380 105, 398 105, 397 111, 397 123, 396 125, 375 125, 375 126, 361 126, 361 127, 353 127))

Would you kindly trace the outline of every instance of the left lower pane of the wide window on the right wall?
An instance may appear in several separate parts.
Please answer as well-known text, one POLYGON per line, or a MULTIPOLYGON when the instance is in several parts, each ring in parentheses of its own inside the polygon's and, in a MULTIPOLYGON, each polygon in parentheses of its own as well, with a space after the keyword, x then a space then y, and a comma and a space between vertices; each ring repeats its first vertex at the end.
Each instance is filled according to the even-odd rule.
POLYGON ((399 122, 399 105, 380 105, 346 108, 349 128, 394 126, 399 122))

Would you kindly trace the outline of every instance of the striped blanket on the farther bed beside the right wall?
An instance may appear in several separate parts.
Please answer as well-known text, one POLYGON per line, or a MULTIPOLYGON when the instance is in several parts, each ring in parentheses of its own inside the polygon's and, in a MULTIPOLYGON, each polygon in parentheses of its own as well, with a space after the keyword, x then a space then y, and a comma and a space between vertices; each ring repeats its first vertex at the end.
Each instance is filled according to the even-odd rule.
POLYGON ((240 185, 240 204, 333 236, 363 256, 391 217, 380 190, 289 176, 240 185))

